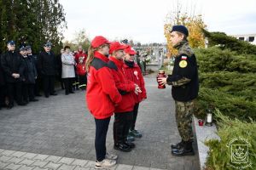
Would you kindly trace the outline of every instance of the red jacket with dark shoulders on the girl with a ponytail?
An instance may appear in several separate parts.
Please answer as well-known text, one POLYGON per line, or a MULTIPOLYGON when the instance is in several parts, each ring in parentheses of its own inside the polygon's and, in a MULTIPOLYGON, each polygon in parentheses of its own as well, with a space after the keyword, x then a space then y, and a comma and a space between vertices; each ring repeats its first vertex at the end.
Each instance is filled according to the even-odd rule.
POLYGON ((115 86, 106 56, 95 52, 87 78, 86 101, 90 113, 96 119, 112 116, 114 105, 119 104, 122 97, 115 86))

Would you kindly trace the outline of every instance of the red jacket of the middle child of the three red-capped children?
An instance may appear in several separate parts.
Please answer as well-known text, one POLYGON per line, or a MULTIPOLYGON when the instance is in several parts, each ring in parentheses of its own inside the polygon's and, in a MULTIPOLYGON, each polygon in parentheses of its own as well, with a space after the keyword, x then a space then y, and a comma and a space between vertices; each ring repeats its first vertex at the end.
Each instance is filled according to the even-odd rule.
POLYGON ((135 94, 135 84, 125 77, 123 60, 109 58, 108 67, 111 68, 116 87, 119 93, 122 94, 122 100, 115 107, 115 113, 133 111, 135 101, 133 94, 135 94))

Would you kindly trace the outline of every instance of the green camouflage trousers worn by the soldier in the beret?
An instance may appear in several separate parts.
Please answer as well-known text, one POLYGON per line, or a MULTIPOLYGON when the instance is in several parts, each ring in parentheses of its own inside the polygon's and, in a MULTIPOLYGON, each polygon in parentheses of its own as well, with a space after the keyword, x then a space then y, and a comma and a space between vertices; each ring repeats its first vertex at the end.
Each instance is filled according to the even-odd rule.
POLYGON ((192 116, 194 102, 175 101, 177 130, 183 141, 193 141, 192 116))

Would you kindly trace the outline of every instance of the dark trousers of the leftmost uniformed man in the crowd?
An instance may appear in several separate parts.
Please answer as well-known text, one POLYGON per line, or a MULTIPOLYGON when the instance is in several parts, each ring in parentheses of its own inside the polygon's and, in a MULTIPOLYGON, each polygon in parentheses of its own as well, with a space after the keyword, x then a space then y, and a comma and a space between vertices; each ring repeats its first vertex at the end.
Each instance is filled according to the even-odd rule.
POLYGON ((22 103, 22 82, 8 82, 7 96, 9 99, 9 105, 14 105, 15 97, 18 104, 22 103))

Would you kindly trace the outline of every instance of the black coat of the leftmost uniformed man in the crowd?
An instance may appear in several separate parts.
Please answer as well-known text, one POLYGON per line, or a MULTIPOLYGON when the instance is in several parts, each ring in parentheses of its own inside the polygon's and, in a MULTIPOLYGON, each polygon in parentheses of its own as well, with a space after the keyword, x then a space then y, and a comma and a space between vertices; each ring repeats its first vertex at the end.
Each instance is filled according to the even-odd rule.
POLYGON ((24 61, 20 57, 20 54, 16 52, 7 52, 2 55, 1 57, 1 65, 3 68, 3 74, 5 77, 6 82, 21 82, 23 77, 24 71, 24 61), (20 78, 12 77, 13 73, 20 74, 20 78))

